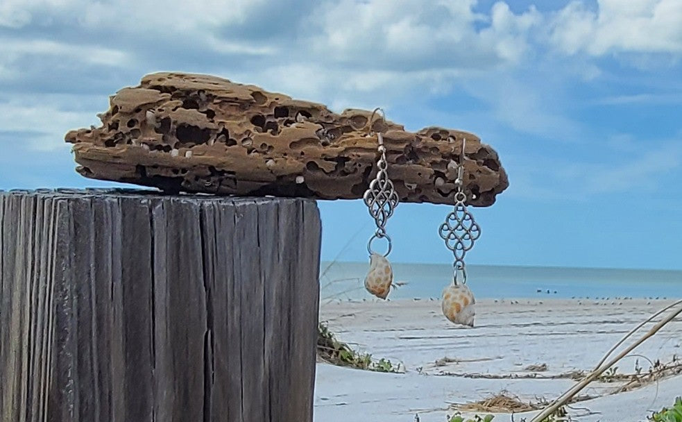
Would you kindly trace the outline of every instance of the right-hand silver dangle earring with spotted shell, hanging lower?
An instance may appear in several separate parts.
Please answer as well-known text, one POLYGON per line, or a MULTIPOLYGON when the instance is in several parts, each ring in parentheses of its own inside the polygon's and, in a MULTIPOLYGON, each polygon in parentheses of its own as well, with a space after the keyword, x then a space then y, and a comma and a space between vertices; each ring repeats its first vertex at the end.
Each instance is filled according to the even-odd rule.
POLYGON ((474 326, 474 295, 466 286, 466 264, 464 255, 474 246, 481 235, 481 228, 474 221, 474 216, 466 208, 464 193, 464 149, 466 140, 462 140, 462 155, 457 168, 457 180, 454 181, 454 210, 447 214, 445 223, 441 224, 439 234, 445 240, 445 246, 454 254, 452 284, 443 289, 443 314, 451 322, 464 326, 474 326))

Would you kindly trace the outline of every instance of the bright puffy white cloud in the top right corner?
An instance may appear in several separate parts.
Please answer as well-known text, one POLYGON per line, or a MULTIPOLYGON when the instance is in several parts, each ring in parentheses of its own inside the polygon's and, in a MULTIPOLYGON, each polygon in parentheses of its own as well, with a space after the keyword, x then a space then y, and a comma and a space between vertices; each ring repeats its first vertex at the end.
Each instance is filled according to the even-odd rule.
POLYGON ((682 1, 599 0, 597 10, 573 1, 550 22, 563 53, 682 53, 682 1))

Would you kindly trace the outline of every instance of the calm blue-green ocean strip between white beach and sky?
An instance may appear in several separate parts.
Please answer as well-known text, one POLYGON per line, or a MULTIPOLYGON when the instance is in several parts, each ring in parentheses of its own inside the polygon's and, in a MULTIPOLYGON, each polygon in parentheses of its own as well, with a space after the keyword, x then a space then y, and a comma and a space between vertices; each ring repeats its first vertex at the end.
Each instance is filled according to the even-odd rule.
MULTIPOLYGON (((393 265, 389 298, 440 298, 452 265, 393 265)), ((364 289, 368 262, 323 262, 322 300, 371 298, 364 289)), ((468 265, 477 298, 682 298, 682 271, 468 265)))

